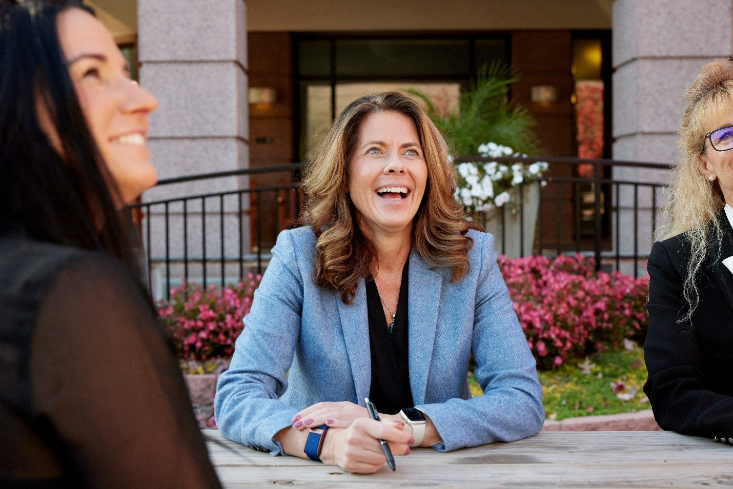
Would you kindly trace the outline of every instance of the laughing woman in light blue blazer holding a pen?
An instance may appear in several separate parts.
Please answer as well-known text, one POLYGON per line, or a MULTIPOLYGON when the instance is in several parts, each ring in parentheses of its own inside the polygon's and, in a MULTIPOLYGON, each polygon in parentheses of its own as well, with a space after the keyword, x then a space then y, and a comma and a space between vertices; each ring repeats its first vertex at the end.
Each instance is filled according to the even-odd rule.
POLYGON ((340 114, 306 169, 308 226, 279 235, 219 380, 227 438, 369 473, 379 439, 408 455, 539 432, 542 389, 493 237, 466 221, 446 161, 405 95, 340 114))

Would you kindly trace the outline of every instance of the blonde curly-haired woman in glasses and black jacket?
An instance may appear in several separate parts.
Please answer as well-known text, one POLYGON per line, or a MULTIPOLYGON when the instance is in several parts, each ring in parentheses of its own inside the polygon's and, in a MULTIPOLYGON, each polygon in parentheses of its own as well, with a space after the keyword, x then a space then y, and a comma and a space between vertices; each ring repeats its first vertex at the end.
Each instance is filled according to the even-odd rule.
POLYGON ((687 91, 667 206, 649 254, 644 386, 660 427, 733 442, 733 62, 687 91))

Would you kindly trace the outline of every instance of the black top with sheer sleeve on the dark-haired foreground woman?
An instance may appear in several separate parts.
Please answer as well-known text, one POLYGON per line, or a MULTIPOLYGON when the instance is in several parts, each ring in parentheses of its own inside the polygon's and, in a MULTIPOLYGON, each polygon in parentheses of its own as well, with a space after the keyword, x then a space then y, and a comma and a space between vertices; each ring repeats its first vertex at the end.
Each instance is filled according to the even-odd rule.
POLYGON ((99 486, 221 487, 128 268, 0 235, 0 487, 99 486))

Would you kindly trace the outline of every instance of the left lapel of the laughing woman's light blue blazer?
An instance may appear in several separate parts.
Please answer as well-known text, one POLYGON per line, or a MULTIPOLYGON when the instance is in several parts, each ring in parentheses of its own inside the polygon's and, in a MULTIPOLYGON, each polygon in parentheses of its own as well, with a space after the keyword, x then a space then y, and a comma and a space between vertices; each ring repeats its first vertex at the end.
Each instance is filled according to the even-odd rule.
POLYGON ((339 317, 351 365, 351 375, 356 387, 356 402, 364 404, 372 385, 372 356, 369 348, 369 315, 367 313, 367 290, 364 279, 356 287, 356 295, 350 306, 344 304, 340 293, 334 293, 339 306, 339 317))

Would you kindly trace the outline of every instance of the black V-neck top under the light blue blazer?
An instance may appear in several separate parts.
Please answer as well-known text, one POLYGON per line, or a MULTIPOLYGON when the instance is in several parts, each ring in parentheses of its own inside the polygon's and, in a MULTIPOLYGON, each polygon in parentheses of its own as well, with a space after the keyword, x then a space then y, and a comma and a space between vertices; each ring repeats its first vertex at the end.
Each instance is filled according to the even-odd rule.
POLYGON ((408 356, 408 263, 402 268, 402 282, 399 284, 397 311, 394 311, 394 327, 389 334, 382 301, 377 285, 371 279, 367 287, 367 314, 369 315, 369 347, 372 356, 372 385, 369 400, 377 411, 397 414, 402 408, 413 408, 415 404, 410 389, 410 368, 408 356))

